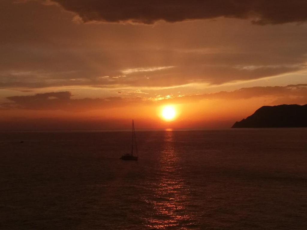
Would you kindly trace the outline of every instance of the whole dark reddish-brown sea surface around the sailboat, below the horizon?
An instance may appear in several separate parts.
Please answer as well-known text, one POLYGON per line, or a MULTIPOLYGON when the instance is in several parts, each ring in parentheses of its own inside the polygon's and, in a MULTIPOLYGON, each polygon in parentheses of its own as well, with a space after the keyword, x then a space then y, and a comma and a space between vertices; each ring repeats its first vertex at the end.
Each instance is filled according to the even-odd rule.
POLYGON ((307 229, 306 128, 136 136, 0 132, 0 229, 307 229))

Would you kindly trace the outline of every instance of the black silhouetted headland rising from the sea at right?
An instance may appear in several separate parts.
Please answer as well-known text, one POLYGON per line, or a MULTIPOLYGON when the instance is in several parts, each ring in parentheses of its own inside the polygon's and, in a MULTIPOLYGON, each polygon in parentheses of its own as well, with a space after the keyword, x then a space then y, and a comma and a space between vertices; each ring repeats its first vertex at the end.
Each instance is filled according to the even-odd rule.
POLYGON ((246 119, 235 122, 231 128, 282 127, 307 127, 307 104, 262 106, 246 119))

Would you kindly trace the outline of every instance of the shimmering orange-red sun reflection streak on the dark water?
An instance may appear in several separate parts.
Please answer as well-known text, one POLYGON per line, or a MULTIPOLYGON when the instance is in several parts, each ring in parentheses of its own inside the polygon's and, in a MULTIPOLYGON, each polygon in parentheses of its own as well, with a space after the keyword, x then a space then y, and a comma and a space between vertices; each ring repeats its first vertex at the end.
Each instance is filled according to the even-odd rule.
MULTIPOLYGON (((168 130, 171 131, 171 130, 168 130)), ((153 215, 145 218, 147 227, 168 229, 183 227, 191 217, 185 205, 188 203, 189 190, 180 172, 180 156, 176 152, 173 132, 165 132, 164 149, 160 153, 160 178, 153 190, 153 215)))

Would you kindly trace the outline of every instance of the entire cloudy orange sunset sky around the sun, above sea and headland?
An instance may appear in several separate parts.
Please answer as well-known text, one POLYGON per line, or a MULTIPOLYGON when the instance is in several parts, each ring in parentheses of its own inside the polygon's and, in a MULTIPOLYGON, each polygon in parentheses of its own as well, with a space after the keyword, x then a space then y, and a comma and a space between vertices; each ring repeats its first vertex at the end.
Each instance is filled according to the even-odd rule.
POLYGON ((1 0, 0 130, 228 128, 307 103, 307 1, 1 0), (162 109, 171 105, 174 119, 162 109))

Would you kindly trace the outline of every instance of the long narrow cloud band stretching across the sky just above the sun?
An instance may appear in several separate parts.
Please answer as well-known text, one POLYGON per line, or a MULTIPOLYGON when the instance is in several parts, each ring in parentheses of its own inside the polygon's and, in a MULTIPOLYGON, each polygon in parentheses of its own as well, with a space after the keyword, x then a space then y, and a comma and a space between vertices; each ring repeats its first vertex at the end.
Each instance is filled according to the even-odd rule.
MULTIPOLYGON (((0 104, 0 109, 31 109, 31 110, 64 110, 64 111, 88 111, 125 107, 128 105, 145 105, 152 103, 154 98, 82 98, 73 99, 72 94, 65 92, 50 92, 28 96, 7 97, 10 102, 0 104)), ((288 86, 250 87, 230 92, 217 92, 211 94, 188 95, 180 97, 167 97, 157 101, 163 103, 193 103, 201 100, 241 100, 250 98, 271 98, 270 104, 306 104, 307 84, 288 86)))

